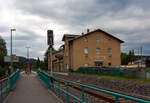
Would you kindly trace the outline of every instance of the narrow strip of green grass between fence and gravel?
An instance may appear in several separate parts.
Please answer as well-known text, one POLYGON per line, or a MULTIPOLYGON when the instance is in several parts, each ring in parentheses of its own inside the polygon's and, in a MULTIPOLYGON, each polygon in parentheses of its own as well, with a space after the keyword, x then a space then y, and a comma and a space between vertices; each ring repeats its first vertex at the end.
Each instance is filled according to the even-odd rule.
POLYGON ((115 79, 115 80, 125 80, 125 81, 134 81, 134 82, 140 82, 140 83, 150 83, 150 79, 136 79, 136 78, 126 78, 126 77, 114 77, 114 76, 108 76, 108 75, 96 75, 96 74, 85 74, 85 73, 78 73, 75 72, 73 74, 81 75, 81 76, 98 76, 101 79, 115 79))

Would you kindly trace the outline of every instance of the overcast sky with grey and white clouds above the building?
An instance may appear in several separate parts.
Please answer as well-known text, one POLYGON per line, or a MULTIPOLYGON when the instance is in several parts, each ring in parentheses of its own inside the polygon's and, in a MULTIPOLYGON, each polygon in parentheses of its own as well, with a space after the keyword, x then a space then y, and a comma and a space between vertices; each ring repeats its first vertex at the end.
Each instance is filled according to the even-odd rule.
POLYGON ((81 34, 102 29, 125 41, 122 51, 143 46, 150 54, 150 0, 0 0, 0 36, 10 54, 10 29, 13 53, 43 58, 47 49, 47 30, 54 30, 55 48, 64 33, 81 34))

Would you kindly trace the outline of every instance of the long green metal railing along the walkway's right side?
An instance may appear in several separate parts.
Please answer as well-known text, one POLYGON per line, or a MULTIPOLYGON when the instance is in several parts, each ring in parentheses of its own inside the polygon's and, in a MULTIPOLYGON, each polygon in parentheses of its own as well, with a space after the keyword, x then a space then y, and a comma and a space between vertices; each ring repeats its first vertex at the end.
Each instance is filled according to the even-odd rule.
POLYGON ((52 91, 55 92, 55 89, 57 89, 58 97, 60 97, 61 92, 64 92, 67 95, 67 99, 66 99, 67 103, 69 103, 69 98, 70 97, 73 97, 75 100, 77 100, 80 103, 86 103, 86 98, 85 98, 85 93, 84 93, 85 88, 113 95, 113 96, 115 96, 115 103, 119 103, 119 98, 124 98, 124 99, 127 99, 127 100, 136 101, 136 102, 139 102, 139 103, 150 103, 150 101, 146 101, 146 100, 143 100, 143 99, 139 99, 139 98, 135 98, 135 97, 131 97, 131 96, 127 96, 127 95, 123 95, 123 94, 119 94, 119 93, 115 93, 115 92, 95 88, 95 87, 92 87, 92 86, 84 85, 84 84, 77 83, 77 82, 74 82, 74 81, 65 80, 65 79, 62 79, 62 78, 57 78, 57 77, 54 77, 54 76, 49 76, 47 73, 42 72, 40 69, 37 71, 37 74, 38 74, 38 77, 44 82, 44 84, 48 88, 52 87, 52 91), (57 80, 57 82, 58 82, 57 85, 55 84, 54 80, 57 80), (60 87, 60 82, 61 81, 65 82, 66 90, 60 87), (75 96, 75 95, 73 95, 69 92, 69 84, 75 84, 75 85, 80 86, 82 88, 81 97, 77 97, 77 96, 75 96))

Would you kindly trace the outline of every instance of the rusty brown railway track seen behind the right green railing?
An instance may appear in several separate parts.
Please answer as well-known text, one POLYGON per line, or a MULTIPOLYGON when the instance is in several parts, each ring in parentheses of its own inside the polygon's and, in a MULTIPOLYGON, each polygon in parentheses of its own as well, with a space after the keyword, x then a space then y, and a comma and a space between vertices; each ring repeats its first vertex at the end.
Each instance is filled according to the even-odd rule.
MULTIPOLYGON (((55 83, 58 83, 58 81, 56 79, 55 79, 55 83)), ((77 82, 77 83, 80 83, 80 82, 77 82)), ((63 87, 63 88, 65 88, 66 85, 67 85, 66 82, 64 82, 64 81, 60 81, 60 84, 61 84, 61 87, 63 87)), ((93 85, 90 85, 90 84, 86 84, 86 85, 93 86, 93 85)), ((99 88, 97 86, 93 86, 93 87, 99 88)), ((139 99, 144 99, 144 100, 150 101, 150 98, 147 98, 147 97, 144 97, 144 96, 139 96, 139 95, 136 95, 136 96, 134 95, 133 96, 133 95, 129 95, 127 93, 121 92, 121 91, 105 89, 105 88, 99 88, 99 89, 103 89, 103 90, 107 90, 107 91, 111 91, 111 92, 115 92, 115 93, 120 93, 120 94, 124 94, 124 95, 127 95, 127 96, 132 96, 132 97, 136 97, 136 98, 139 98, 139 99)), ((75 84, 69 84, 69 90, 74 91, 78 94, 82 93, 82 87, 77 86, 75 84)), ((97 103, 115 103, 115 96, 113 96, 113 95, 109 95, 109 94, 106 94, 106 93, 103 93, 103 92, 98 92, 98 91, 91 90, 91 89, 88 89, 88 88, 85 88, 84 92, 85 92, 85 97, 86 98, 95 99, 97 101, 97 103)), ((91 102, 89 102, 89 103, 91 103, 91 102)), ((92 102, 92 103, 95 103, 95 102, 92 102)), ((138 103, 138 102, 126 100, 124 98, 119 98, 119 103, 138 103)))

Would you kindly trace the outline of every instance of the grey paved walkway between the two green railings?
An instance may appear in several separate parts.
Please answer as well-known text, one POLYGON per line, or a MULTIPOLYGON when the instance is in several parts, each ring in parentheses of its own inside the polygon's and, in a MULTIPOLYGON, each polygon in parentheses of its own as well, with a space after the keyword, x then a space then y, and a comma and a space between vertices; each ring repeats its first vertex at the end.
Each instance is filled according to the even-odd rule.
POLYGON ((48 92, 35 73, 22 73, 14 91, 8 96, 6 103, 60 103, 48 92))

